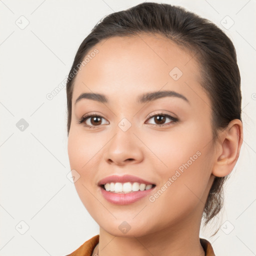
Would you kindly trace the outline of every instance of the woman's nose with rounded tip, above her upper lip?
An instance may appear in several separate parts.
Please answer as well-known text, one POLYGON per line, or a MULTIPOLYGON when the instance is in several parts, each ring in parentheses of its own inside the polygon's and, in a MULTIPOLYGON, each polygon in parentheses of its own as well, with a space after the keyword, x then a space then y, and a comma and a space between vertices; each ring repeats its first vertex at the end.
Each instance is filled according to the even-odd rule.
POLYGON ((108 164, 123 166, 139 163, 143 159, 143 143, 134 135, 130 128, 127 131, 116 129, 115 135, 108 141, 104 160, 108 164))

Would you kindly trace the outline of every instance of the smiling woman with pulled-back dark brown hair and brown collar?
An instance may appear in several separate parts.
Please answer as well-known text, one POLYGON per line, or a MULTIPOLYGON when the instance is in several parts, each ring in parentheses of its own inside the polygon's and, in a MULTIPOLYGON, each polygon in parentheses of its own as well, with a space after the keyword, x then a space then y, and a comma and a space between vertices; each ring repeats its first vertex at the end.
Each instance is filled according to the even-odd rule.
POLYGON ((178 6, 103 18, 67 81, 68 156, 99 234, 69 255, 215 255, 199 237, 219 213, 242 143, 230 39, 178 6))

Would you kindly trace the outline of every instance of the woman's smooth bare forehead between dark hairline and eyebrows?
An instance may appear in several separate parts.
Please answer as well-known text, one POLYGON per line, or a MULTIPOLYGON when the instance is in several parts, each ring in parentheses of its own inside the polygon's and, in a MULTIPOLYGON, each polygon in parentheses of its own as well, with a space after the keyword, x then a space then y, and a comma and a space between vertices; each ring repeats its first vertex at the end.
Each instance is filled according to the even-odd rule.
POLYGON ((110 37, 97 43, 86 57, 75 77, 72 103, 81 92, 115 95, 115 100, 118 94, 121 100, 121 95, 134 98, 134 93, 161 88, 178 93, 191 93, 189 86, 202 90, 194 53, 160 35, 110 37), (95 49, 97 53, 91 54, 95 49))

